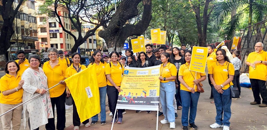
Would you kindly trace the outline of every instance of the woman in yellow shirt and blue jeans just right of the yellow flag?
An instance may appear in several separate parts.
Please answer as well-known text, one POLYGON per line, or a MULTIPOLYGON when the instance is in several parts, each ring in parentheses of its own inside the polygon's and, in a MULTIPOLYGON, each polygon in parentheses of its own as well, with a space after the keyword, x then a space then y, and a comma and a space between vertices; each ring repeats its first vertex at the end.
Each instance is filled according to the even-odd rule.
MULTIPOLYGON (((105 74, 105 66, 106 62, 101 58, 101 53, 99 51, 95 51, 90 58, 89 66, 96 64, 96 78, 98 87, 99 87, 99 95, 100 95, 100 115, 101 115, 101 124, 106 124, 106 94, 107 94, 107 78, 105 74)), ((88 66, 88 67, 89 67, 88 66)), ((91 125, 95 125, 98 121, 98 114, 92 117, 91 125)))

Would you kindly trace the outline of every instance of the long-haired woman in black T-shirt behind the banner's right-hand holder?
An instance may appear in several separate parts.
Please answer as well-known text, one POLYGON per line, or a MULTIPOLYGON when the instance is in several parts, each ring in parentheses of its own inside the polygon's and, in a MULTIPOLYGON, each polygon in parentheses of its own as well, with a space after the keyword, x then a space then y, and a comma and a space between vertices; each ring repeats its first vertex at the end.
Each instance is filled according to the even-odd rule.
POLYGON ((177 76, 175 79, 175 86, 176 86, 175 99, 176 99, 177 108, 175 109, 181 110, 183 108, 182 107, 183 105, 182 105, 182 99, 181 99, 180 81, 178 80, 178 73, 179 73, 180 66, 182 64, 185 64, 185 60, 182 54, 180 53, 180 50, 178 47, 172 48, 171 51, 172 51, 171 58, 177 69, 177 76))

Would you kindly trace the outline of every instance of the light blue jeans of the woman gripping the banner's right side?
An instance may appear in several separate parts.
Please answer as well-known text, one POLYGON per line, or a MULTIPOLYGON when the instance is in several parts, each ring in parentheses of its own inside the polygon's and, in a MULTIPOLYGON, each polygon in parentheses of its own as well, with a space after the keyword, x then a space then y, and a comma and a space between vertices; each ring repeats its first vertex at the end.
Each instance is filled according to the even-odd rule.
POLYGON ((175 95, 175 82, 160 82, 159 97, 162 104, 164 119, 169 122, 175 121, 175 113, 173 107, 173 98, 175 95))

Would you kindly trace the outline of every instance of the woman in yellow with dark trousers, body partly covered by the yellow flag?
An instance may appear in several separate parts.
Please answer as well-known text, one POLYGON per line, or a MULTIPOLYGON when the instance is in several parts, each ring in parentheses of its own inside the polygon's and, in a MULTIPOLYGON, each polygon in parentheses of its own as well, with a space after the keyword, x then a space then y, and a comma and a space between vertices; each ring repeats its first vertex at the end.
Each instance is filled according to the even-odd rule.
MULTIPOLYGON (((86 66, 80 64, 80 60, 81 60, 81 55, 79 53, 72 54, 73 64, 66 69, 65 79, 72 76, 73 74, 76 74, 76 73, 86 69, 86 66)), ((67 97, 69 97, 69 96, 70 96, 70 92, 67 89, 67 97)), ((79 126, 81 124, 81 121, 80 121, 80 117, 78 115, 74 100, 72 101, 72 103, 73 103, 72 120, 73 120, 74 130, 78 130, 79 126)), ((85 125, 85 127, 90 127, 89 119, 85 120, 83 122, 83 125, 85 125)))

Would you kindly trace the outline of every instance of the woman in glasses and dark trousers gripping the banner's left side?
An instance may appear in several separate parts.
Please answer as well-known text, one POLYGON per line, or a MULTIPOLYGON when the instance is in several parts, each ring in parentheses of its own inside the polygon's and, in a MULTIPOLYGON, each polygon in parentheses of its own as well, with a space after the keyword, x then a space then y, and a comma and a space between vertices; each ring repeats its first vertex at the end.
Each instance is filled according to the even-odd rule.
MULTIPOLYGON (((115 124, 117 121, 117 112, 115 113, 117 100, 120 91, 120 85, 122 81, 122 76, 124 72, 123 65, 118 62, 119 53, 116 51, 112 51, 109 54, 111 57, 111 62, 105 66, 105 73, 107 76, 107 95, 108 95, 108 103, 109 108, 111 109, 112 114, 114 115, 112 118, 114 119, 111 121, 111 124, 115 124)), ((122 124, 122 113, 123 109, 118 110, 118 122, 122 124)))

